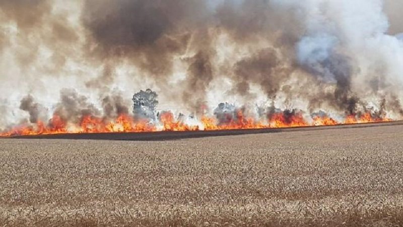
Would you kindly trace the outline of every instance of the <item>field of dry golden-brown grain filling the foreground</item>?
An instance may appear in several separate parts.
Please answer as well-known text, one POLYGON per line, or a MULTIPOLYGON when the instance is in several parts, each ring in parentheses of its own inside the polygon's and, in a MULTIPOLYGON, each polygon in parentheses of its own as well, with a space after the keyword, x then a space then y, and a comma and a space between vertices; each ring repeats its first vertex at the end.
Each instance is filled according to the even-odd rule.
POLYGON ((3 139, 0 225, 403 226, 403 126, 3 139))

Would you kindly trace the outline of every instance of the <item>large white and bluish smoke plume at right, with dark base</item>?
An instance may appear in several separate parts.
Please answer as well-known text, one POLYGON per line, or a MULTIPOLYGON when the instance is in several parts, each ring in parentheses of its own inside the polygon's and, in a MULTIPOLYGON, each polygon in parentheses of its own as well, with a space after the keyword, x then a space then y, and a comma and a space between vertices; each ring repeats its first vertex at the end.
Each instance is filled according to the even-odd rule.
POLYGON ((298 63, 324 83, 335 85, 333 94, 325 92, 315 101, 352 113, 366 96, 399 93, 394 86, 398 81, 401 87, 403 46, 386 34, 382 1, 274 2, 308 15, 307 32, 297 44, 298 63))

